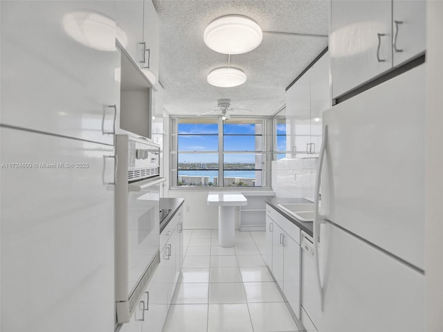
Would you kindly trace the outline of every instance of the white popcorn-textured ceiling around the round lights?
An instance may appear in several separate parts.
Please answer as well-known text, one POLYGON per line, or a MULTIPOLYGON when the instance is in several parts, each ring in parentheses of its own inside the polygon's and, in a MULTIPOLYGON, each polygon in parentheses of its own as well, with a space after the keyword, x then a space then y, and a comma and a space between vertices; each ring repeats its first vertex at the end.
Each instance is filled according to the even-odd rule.
MULTIPOLYGON (((264 33, 251 52, 231 55, 230 65, 248 79, 241 86, 218 88, 206 82, 214 68, 227 66, 228 55, 204 44, 206 26, 223 15, 251 17, 263 31, 327 35, 325 0, 153 0, 159 15, 159 81, 170 114, 198 114, 215 109, 217 99, 231 107, 272 115, 284 105, 284 89, 327 46, 327 37, 264 33)), ((241 114, 237 112, 236 114, 241 114)), ((249 113, 245 113, 249 114, 249 113)))

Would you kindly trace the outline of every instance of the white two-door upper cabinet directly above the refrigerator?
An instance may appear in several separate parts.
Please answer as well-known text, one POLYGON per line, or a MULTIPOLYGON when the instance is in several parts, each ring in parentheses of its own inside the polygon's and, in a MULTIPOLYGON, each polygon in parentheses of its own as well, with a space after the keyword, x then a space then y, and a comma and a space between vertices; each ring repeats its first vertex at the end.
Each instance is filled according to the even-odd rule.
POLYGON ((424 52, 424 12, 424 0, 332 0, 332 98, 424 52))

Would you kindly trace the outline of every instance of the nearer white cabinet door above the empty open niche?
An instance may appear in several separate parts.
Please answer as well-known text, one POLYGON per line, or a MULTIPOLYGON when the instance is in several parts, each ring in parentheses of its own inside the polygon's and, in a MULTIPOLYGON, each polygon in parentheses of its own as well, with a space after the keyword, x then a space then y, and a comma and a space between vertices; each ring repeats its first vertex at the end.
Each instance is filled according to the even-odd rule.
POLYGON ((116 1, 117 25, 125 32, 125 49, 136 64, 141 61, 143 42, 143 0, 116 1))

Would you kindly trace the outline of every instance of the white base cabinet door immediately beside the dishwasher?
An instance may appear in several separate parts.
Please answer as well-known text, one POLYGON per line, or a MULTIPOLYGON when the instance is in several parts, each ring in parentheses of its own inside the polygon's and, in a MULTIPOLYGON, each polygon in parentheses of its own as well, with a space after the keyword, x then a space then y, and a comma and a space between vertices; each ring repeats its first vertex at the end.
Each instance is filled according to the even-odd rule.
POLYGON ((300 245, 284 234, 283 293, 300 319, 300 245))

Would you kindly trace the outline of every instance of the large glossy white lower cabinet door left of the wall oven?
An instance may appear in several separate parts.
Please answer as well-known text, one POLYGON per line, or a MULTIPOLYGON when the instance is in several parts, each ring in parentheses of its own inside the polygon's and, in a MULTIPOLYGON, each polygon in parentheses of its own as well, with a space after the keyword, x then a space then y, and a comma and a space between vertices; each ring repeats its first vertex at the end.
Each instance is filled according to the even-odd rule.
POLYGON ((1 331, 114 331, 114 148, 4 127, 0 142, 1 331))

